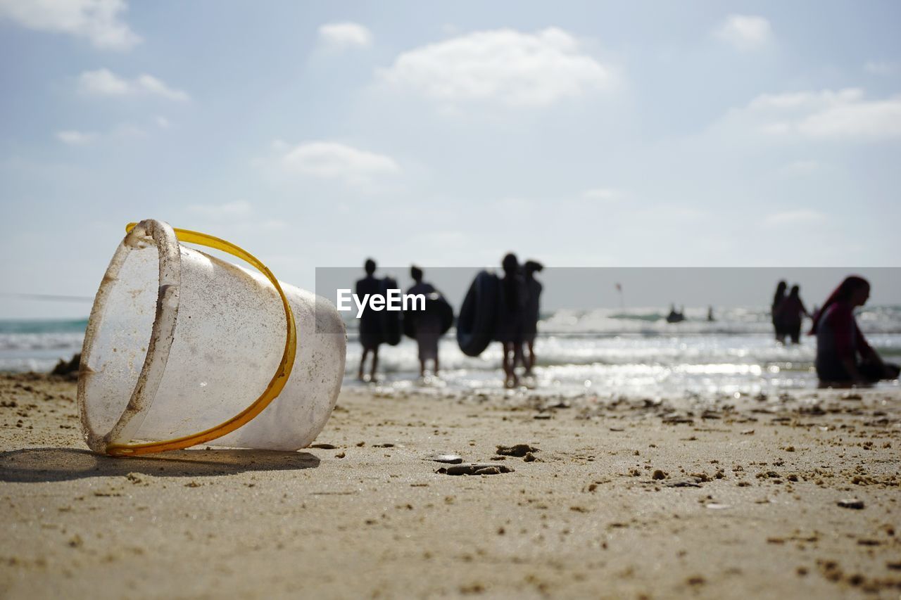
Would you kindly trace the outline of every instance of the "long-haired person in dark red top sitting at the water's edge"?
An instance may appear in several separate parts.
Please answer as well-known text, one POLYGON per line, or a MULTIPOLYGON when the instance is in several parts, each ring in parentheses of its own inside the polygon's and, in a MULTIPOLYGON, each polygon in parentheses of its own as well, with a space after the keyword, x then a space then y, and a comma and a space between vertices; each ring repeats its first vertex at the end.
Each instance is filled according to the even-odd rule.
POLYGON ((852 275, 815 314, 810 334, 816 335, 816 375, 821 386, 869 384, 898 377, 898 366, 879 358, 854 319, 854 309, 868 298, 869 282, 852 275))

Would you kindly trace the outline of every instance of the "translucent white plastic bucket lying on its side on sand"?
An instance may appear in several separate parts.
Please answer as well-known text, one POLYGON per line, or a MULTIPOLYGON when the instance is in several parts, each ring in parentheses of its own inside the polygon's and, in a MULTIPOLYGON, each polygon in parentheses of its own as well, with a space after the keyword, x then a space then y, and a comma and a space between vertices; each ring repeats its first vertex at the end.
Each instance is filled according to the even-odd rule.
POLYGON ((110 261, 87 324, 85 441, 115 456, 199 443, 304 448, 332 414, 346 346, 324 298, 278 282, 229 242, 142 221, 110 261), (262 274, 179 241, 229 252, 262 274))

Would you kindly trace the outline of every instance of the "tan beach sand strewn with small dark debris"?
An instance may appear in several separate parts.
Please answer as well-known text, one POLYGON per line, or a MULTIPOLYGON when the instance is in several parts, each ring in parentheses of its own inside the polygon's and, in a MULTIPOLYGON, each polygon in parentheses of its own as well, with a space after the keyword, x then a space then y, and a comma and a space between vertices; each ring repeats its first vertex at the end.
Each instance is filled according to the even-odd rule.
POLYGON ((88 452, 75 396, 0 377, 4 598, 901 594, 896 389, 356 388, 319 447, 139 459, 88 452), (494 458, 514 444, 537 450, 494 458), (447 452, 513 470, 436 473, 447 452))

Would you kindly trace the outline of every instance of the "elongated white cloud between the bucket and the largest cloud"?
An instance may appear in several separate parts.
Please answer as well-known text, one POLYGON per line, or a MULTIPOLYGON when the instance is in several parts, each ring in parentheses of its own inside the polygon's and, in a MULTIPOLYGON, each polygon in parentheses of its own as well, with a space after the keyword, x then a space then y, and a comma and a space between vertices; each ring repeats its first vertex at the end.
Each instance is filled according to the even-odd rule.
MULTIPOLYGON (((282 144, 278 144, 281 148, 282 144)), ((281 148, 278 164, 288 173, 343 179, 350 183, 400 172, 395 159, 336 141, 310 141, 281 148)))

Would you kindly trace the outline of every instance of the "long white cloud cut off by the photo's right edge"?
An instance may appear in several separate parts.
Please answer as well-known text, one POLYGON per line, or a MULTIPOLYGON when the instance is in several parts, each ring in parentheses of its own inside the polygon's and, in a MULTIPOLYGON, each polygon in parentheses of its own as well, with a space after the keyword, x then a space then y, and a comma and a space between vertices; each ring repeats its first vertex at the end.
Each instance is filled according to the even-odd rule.
POLYGON ((730 123, 772 138, 873 141, 901 137, 901 95, 868 100, 862 89, 764 94, 733 109, 730 123))

